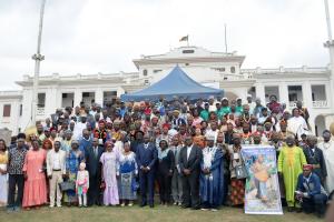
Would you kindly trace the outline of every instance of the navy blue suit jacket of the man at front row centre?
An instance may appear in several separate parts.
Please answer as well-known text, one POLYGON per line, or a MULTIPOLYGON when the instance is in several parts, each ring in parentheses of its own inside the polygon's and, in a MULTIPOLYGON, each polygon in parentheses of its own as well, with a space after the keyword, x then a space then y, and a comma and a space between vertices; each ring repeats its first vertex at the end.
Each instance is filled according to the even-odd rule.
POLYGON ((145 148, 144 143, 137 147, 136 160, 138 168, 149 168, 150 171, 155 170, 156 162, 158 160, 158 151, 156 145, 148 143, 148 148, 145 148))

